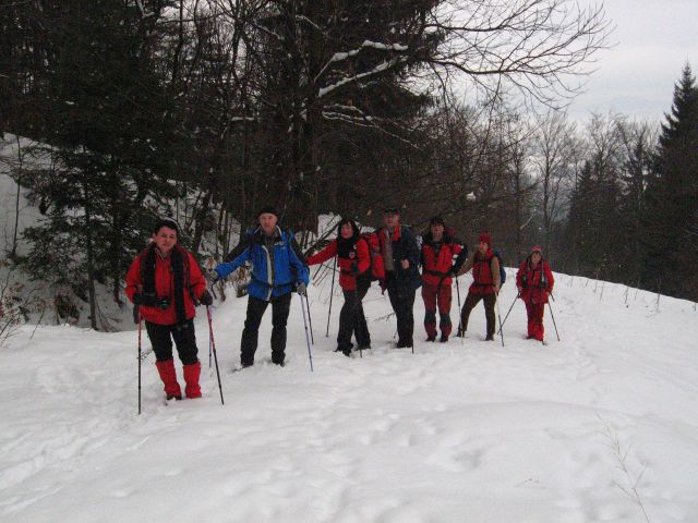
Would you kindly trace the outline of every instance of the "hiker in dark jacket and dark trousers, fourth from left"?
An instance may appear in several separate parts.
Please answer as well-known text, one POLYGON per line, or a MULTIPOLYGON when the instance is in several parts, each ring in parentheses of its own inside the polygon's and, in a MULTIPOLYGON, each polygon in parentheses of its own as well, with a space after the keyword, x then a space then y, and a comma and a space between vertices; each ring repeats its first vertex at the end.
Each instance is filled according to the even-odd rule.
POLYGON ((413 350, 414 293, 422 284, 419 273, 419 245, 409 227, 400 224, 400 211, 386 209, 383 226, 376 231, 385 267, 385 280, 381 288, 388 291, 390 305, 397 317, 397 348, 413 350))

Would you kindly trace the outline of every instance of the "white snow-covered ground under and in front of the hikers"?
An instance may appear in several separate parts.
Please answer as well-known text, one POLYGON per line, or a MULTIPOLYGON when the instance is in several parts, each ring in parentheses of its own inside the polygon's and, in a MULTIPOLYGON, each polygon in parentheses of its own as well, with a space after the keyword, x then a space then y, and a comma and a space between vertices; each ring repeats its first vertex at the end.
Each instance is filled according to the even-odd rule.
MULTIPOLYGON (((412 354, 374 284, 374 348, 347 358, 338 292, 325 337, 328 288, 310 288, 314 373, 296 296, 287 366, 269 363, 268 311, 257 364, 232 373, 231 299, 214 312, 226 404, 200 309, 204 398, 165 404, 151 354, 140 416, 135 331, 25 326, 0 351, 0 521, 698 521, 695 304, 557 275, 562 341, 549 313, 549 344, 525 340, 519 302, 502 346, 482 305, 464 343, 424 342, 418 294, 412 354)), ((507 281, 502 314, 514 295, 507 281)))

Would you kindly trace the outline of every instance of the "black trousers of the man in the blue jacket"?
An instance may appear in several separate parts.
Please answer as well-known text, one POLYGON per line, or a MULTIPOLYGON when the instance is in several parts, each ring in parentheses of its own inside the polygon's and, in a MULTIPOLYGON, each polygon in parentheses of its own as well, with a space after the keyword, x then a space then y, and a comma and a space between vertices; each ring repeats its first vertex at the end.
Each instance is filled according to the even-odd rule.
POLYGON ((272 362, 280 365, 285 360, 286 324, 291 307, 292 292, 272 297, 270 302, 250 296, 248 299, 248 316, 242 330, 240 346, 240 363, 244 366, 254 365, 254 353, 257 350, 260 324, 266 307, 272 304, 272 362))

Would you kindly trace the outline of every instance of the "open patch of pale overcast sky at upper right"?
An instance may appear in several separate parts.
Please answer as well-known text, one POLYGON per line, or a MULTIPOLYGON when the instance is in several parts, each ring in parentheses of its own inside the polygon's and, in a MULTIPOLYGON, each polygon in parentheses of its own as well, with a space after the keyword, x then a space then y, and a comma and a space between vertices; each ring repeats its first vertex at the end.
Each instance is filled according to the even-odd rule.
MULTIPOLYGON (((600 2, 578 0, 580 5, 600 2)), ((605 0, 616 45, 601 51, 597 71, 569 108, 574 119, 592 111, 660 120, 686 62, 698 73, 698 0, 605 0)))

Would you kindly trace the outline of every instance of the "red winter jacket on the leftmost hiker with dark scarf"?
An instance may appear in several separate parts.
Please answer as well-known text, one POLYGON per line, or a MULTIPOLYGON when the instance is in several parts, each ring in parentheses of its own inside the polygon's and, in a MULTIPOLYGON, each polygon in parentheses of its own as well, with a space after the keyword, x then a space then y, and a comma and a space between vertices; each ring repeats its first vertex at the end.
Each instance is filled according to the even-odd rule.
MULTIPOLYGON (((183 259, 184 313, 186 319, 191 319, 196 315, 192 295, 195 296, 196 300, 201 299, 202 294, 206 290, 206 280, 204 279, 194 256, 189 251, 184 251, 180 246, 176 245, 174 248, 179 248, 182 256, 185 256, 183 259)), ((141 263, 145 260, 146 252, 147 250, 136 256, 129 268, 129 272, 127 273, 127 295, 131 302, 133 302, 133 295, 136 292, 140 293, 143 291, 141 263)), ((164 258, 157 248, 155 252, 157 253, 155 256, 155 294, 158 297, 169 297, 170 305, 166 309, 141 305, 141 316, 143 319, 151 321, 152 324, 174 325, 177 324, 177 312, 174 309, 174 278, 172 276, 172 270, 170 269, 171 256, 164 258)))

